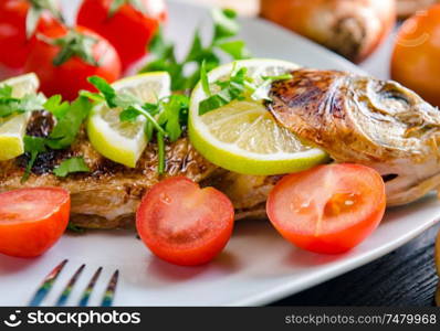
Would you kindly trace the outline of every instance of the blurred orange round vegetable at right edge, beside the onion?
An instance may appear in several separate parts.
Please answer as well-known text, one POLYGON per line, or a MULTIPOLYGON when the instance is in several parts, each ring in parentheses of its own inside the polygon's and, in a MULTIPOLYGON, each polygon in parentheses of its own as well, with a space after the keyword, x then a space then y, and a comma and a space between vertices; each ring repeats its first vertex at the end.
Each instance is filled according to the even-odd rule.
POLYGON ((408 19, 391 57, 391 78, 440 106, 440 4, 408 19))

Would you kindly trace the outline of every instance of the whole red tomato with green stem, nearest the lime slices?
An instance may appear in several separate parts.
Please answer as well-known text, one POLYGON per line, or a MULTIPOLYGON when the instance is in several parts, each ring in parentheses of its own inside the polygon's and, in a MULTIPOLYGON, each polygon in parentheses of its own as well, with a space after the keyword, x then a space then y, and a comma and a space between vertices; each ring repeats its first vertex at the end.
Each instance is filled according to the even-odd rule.
POLYGON ((108 83, 116 81, 121 60, 108 41, 87 28, 56 28, 32 41, 24 71, 39 76, 40 89, 46 96, 61 94, 73 100, 81 89, 95 90, 87 82, 90 76, 103 77, 108 83), (63 58, 61 55, 69 56, 56 63, 63 58))

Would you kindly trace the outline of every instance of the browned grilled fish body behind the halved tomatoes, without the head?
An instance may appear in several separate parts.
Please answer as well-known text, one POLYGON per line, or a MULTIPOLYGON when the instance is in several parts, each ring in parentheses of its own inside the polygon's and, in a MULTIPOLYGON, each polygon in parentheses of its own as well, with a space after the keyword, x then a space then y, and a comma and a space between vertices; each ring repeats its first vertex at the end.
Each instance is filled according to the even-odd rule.
MULTIPOLYGON (((52 127, 53 120, 49 114, 35 113, 28 125, 28 135, 46 137, 52 127)), ((185 175, 195 182, 202 182, 202 185, 220 186, 222 178, 231 175, 219 171, 202 158, 188 138, 167 145, 164 175, 157 172, 157 146, 149 143, 137 167, 129 169, 102 157, 94 150, 83 130, 70 149, 41 154, 24 183, 21 183, 21 178, 28 161, 27 156, 0 162, 0 192, 20 188, 61 186, 71 192, 73 223, 88 228, 115 228, 133 225, 140 199, 165 178, 185 175), (80 156, 84 157, 91 169, 90 173, 71 174, 65 179, 52 174, 53 168, 64 159, 80 156)), ((256 186, 270 183, 255 181, 256 186)), ((247 195, 229 190, 239 210, 238 217, 263 215, 264 209, 261 207, 266 196, 259 193, 258 188, 254 189, 251 190, 254 194, 247 195)))

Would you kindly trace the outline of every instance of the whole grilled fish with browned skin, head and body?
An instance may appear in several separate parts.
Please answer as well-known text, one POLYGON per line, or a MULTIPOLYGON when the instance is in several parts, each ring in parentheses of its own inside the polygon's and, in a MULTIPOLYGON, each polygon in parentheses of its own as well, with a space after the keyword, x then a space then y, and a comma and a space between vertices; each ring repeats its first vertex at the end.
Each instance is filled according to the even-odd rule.
MULTIPOLYGON (((440 185, 440 113, 411 90, 336 71, 298 70, 293 78, 275 82, 271 111, 280 125, 304 142, 327 151, 336 162, 362 163, 384 177, 388 205, 423 196, 440 185)), ((34 111, 28 135, 46 137, 52 115, 34 111)), ((265 200, 281 177, 243 175, 207 161, 187 137, 167 145, 166 171, 157 172, 158 153, 149 143, 134 169, 95 151, 83 130, 66 150, 50 150, 36 159, 22 182, 29 156, 0 162, 0 192, 30 186, 62 186, 72 194, 72 222, 82 227, 115 228, 134 223, 134 214, 154 184, 185 175, 202 186, 224 192, 237 217, 264 216, 265 200), (91 172, 59 178, 52 170, 63 160, 81 156, 91 172)))

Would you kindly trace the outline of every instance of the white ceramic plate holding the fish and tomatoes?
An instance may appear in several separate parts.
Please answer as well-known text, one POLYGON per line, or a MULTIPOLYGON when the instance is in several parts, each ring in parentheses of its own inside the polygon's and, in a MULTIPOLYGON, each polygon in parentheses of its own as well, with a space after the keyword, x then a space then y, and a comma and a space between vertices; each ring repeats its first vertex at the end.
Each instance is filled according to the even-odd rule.
MULTIPOLYGON (((65 1, 70 13, 71 4, 65 1)), ((170 4, 169 34, 186 47, 192 28, 207 21, 197 7, 170 4)), ((258 56, 275 57, 319 67, 360 70, 326 50, 259 20, 244 20, 242 36, 258 56)), ((36 259, 0 256, 0 305, 27 305, 40 281, 61 260, 69 264, 49 296, 53 305, 62 286, 81 265, 85 273, 70 305, 98 266, 102 282, 92 297, 97 305, 105 284, 121 270, 116 306, 256 306, 298 292, 367 264, 421 234, 440 218, 440 202, 428 196, 406 207, 387 212, 380 227, 348 254, 324 256, 292 247, 269 222, 245 221, 237 228, 226 252, 214 263, 197 268, 175 267, 153 257, 134 232, 91 232, 66 235, 46 255, 36 259), (105 281, 104 281, 105 280, 105 281)), ((368 277, 368 275, 366 275, 368 277)))

